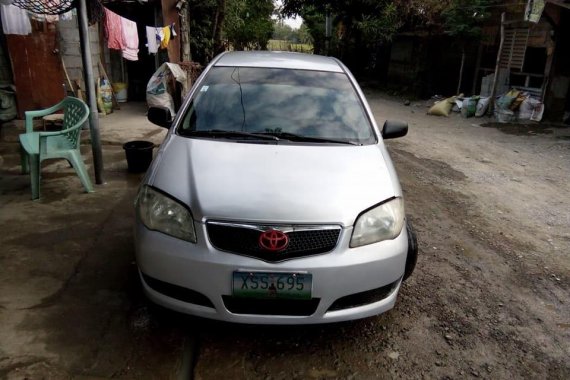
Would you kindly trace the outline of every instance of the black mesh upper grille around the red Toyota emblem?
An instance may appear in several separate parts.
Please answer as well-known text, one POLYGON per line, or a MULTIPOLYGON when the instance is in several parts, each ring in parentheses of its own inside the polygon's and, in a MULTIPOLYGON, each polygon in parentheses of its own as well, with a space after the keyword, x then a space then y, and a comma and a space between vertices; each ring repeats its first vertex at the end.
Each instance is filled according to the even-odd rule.
POLYGON ((262 227, 209 222, 206 228, 210 242, 217 249, 270 262, 330 252, 336 247, 341 232, 340 227, 290 228, 292 231, 286 232, 289 246, 283 251, 271 252, 259 246, 259 236, 265 230, 262 227))

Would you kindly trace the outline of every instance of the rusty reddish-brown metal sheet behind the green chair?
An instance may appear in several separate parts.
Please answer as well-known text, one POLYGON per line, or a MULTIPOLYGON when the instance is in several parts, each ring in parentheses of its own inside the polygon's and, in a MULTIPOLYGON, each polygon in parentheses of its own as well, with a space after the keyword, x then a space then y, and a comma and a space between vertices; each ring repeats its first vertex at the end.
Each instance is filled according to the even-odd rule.
POLYGON ((65 96, 57 38, 54 24, 36 22, 30 35, 6 35, 19 118, 25 111, 48 108, 65 96))

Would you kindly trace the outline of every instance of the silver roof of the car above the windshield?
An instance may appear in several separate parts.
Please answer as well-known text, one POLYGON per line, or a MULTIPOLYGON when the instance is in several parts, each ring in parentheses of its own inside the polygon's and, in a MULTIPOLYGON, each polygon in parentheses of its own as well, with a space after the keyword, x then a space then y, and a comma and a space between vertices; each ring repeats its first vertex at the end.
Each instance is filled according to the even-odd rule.
POLYGON ((214 66, 267 67, 342 73, 339 62, 322 55, 284 51, 233 51, 222 54, 214 66))

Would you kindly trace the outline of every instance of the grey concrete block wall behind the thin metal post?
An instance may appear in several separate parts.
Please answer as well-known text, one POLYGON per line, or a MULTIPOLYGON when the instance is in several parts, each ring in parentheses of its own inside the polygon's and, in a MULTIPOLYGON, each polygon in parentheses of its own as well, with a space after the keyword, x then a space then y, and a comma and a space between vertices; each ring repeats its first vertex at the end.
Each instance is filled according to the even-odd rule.
MULTIPOLYGON (((79 25, 77 14, 73 12, 73 19, 68 21, 60 20, 59 34, 60 34, 60 51, 65 62, 65 68, 69 78, 73 82, 79 80, 81 89, 85 91, 83 82, 83 64, 81 59, 81 46, 79 43, 79 25)), ((99 76, 99 68, 97 62, 100 57, 99 45, 99 26, 98 24, 89 27, 89 39, 91 40, 91 57, 93 60, 93 75, 99 76)))

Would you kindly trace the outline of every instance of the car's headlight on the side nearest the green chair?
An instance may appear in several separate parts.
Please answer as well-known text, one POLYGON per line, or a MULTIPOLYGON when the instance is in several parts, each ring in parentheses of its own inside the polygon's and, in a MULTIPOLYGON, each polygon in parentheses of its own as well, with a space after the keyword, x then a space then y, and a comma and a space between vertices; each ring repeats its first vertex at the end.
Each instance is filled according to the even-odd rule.
POLYGON ((196 243, 192 214, 174 199, 144 185, 137 196, 136 208, 146 228, 196 243))

